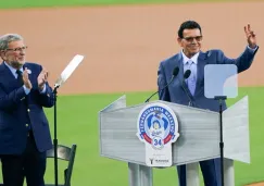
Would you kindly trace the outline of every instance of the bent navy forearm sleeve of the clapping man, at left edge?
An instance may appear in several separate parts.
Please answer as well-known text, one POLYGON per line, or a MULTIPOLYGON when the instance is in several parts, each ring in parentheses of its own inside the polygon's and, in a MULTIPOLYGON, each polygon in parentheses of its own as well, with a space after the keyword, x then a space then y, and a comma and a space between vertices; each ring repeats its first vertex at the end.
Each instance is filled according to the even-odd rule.
POLYGON ((4 87, 0 84, 0 109, 1 110, 12 110, 14 109, 23 99, 25 99, 26 94, 23 87, 14 89, 10 94, 7 94, 4 87))

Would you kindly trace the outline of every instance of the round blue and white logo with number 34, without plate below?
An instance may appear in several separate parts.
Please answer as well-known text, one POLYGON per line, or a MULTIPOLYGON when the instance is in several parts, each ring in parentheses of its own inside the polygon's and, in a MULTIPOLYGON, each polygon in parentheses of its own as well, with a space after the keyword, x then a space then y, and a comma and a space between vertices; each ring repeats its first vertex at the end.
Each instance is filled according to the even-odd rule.
POLYGON ((179 137, 175 113, 162 103, 152 103, 143 108, 138 116, 137 126, 138 138, 156 150, 175 142, 179 137))

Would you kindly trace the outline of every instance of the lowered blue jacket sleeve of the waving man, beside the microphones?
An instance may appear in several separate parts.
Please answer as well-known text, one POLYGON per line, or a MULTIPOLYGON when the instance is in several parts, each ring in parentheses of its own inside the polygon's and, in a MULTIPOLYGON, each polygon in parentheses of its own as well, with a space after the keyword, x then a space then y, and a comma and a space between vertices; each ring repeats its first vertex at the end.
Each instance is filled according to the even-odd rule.
POLYGON ((159 88, 159 99, 163 101, 171 101, 168 87, 162 90, 166 86, 166 75, 163 69, 163 63, 160 63, 158 70, 158 88, 159 88))

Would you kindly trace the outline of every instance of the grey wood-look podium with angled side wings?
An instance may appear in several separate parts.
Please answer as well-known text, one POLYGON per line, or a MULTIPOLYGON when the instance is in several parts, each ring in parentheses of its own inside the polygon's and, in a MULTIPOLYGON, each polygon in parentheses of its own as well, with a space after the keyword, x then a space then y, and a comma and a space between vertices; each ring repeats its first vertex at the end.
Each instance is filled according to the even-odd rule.
MULTIPOLYGON (((155 102, 169 107, 178 120, 173 166, 186 164, 187 186, 199 186, 199 161, 221 157, 218 112, 161 100, 126 107, 122 96, 99 112, 100 156, 128 163, 129 186, 153 186, 153 168, 146 165, 144 144, 136 133, 140 110, 155 102)), ((223 139, 224 183, 235 186, 234 161, 250 163, 248 96, 223 112, 223 139)))

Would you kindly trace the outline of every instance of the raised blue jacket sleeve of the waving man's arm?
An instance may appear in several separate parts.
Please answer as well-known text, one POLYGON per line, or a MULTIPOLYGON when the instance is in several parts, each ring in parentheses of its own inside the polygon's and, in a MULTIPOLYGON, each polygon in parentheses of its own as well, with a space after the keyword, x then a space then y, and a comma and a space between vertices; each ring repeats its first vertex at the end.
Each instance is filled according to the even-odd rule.
POLYGON ((251 66, 254 55, 257 50, 259 50, 259 47, 255 50, 249 49, 249 47, 247 47, 246 50, 237 59, 229 59, 229 58, 225 57, 223 51, 219 51, 217 54, 217 63, 218 64, 236 64, 238 67, 238 73, 241 73, 251 66))

